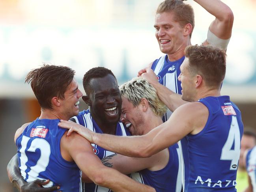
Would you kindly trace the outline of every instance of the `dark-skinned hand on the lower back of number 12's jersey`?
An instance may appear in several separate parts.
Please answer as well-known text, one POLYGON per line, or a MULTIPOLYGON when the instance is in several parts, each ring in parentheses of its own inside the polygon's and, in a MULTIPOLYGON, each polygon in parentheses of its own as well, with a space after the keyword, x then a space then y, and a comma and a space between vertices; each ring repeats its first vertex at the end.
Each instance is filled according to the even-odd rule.
MULTIPOLYGON (((50 192, 54 190, 60 189, 60 186, 52 186, 43 188, 43 185, 47 185, 50 182, 49 179, 47 180, 35 180, 31 183, 26 183, 25 185, 21 186, 21 192, 50 192)), ((60 192, 60 191, 59 191, 60 192)))

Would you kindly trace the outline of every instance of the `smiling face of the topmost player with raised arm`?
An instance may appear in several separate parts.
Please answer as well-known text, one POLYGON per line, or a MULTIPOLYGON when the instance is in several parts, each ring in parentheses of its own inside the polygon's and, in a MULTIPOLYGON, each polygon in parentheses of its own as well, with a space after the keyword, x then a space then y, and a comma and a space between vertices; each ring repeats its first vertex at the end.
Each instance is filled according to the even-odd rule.
POLYGON ((154 28, 161 52, 174 54, 186 44, 187 39, 183 35, 183 28, 174 20, 174 13, 157 13, 154 28))

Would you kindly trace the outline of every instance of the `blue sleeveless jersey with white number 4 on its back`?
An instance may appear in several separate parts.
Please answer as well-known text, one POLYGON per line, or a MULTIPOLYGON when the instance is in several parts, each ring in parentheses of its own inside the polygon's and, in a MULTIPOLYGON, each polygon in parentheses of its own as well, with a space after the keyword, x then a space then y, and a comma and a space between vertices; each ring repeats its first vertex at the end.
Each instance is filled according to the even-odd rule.
POLYGON ((209 117, 201 132, 181 139, 184 191, 235 192, 243 135, 241 112, 229 96, 206 97, 198 102, 208 108, 209 117))

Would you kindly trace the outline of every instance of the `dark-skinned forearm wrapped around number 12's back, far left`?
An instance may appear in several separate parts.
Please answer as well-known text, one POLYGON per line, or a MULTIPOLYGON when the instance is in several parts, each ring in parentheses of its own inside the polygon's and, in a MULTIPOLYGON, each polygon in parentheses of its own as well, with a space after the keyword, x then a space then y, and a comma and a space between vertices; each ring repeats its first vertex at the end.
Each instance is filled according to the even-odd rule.
POLYGON ((27 182, 21 176, 19 169, 18 155, 16 154, 7 165, 7 174, 13 185, 21 191, 21 187, 27 182))

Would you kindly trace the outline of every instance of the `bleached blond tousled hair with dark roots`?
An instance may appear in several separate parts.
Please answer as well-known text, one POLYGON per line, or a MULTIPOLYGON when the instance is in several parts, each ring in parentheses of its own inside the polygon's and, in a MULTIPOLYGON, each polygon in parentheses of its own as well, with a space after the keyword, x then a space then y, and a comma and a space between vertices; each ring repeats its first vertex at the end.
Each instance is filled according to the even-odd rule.
POLYGON ((133 78, 120 87, 120 93, 126 97, 134 107, 140 104, 141 99, 147 99, 149 106, 156 116, 163 117, 167 107, 157 96, 157 91, 144 78, 133 78))

